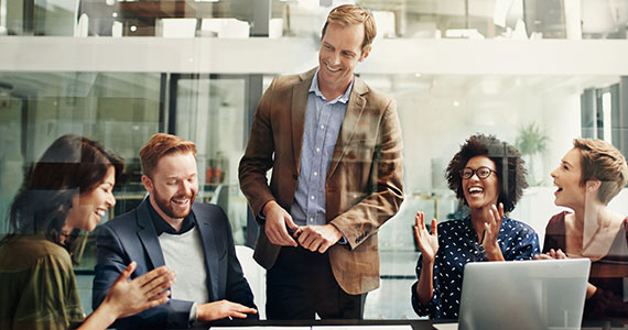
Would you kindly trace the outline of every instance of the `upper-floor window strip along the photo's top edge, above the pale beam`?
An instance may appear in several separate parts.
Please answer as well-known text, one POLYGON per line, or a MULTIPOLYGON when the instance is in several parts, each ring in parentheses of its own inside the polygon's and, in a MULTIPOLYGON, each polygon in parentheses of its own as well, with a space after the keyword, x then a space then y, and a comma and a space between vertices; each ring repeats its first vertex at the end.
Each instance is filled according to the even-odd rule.
POLYGON ((628 31, 626 0, 3 0, 0 35, 248 37, 267 18, 264 35, 317 37, 329 7, 344 2, 372 10, 380 36, 392 38, 626 38, 628 31))

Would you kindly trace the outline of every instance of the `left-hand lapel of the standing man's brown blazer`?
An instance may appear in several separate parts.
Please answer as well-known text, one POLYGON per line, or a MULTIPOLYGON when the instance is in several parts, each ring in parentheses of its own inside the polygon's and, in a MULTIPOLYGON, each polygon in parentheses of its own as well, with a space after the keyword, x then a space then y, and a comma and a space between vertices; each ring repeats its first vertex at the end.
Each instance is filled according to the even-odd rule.
POLYGON ((310 90, 315 73, 316 69, 314 68, 299 75, 301 81, 292 87, 292 109, 290 109, 289 112, 292 122, 292 153, 294 154, 294 168, 296 168, 296 173, 301 170, 301 150, 303 146, 307 91, 310 90))

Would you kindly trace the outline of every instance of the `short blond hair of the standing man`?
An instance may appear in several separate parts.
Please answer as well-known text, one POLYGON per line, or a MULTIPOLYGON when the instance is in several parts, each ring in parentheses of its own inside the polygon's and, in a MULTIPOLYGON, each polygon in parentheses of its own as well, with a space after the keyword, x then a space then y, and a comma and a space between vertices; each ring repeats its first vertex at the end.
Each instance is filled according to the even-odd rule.
POLYGON ((362 40, 362 52, 368 45, 372 43, 372 40, 377 35, 377 28, 375 26, 375 19, 372 18, 372 14, 359 6, 343 4, 332 9, 327 15, 327 21, 323 26, 323 33, 321 34, 321 37, 325 36, 327 25, 332 23, 340 24, 343 26, 364 24, 365 38, 362 40))

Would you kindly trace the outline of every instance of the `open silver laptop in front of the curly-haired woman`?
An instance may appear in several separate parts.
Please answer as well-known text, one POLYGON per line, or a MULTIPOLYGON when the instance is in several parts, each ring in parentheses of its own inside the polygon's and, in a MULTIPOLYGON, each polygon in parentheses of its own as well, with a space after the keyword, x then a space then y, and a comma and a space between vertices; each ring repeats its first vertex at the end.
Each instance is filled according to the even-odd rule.
POLYGON ((591 261, 465 266, 458 329, 580 329, 591 261))

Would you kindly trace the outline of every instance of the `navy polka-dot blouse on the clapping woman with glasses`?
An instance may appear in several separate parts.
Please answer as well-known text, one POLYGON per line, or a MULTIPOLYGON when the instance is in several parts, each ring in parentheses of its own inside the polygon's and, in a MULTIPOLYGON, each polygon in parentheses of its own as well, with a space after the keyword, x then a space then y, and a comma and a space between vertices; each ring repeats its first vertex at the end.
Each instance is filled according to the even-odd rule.
MULTIPOLYGON (((497 242, 507 261, 531 260, 539 254, 539 237, 528 224, 504 217, 497 242)), ((423 256, 416 263, 421 276, 423 256)), ((427 306, 421 306, 415 282, 412 285, 412 307, 420 316, 432 319, 457 319, 467 263, 486 262, 488 257, 478 242, 470 216, 463 220, 438 223, 438 253, 434 261, 434 296, 427 306)))

